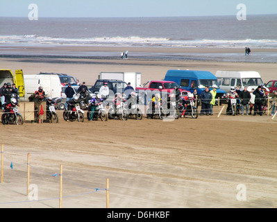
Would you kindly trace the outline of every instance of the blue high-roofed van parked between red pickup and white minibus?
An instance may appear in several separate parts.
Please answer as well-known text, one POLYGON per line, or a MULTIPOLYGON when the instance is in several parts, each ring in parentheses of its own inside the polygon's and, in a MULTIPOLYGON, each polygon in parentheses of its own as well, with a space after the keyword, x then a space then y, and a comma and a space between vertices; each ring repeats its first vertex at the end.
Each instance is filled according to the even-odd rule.
POLYGON ((226 92, 219 89, 217 83, 217 77, 210 71, 195 71, 195 70, 181 70, 181 69, 169 69, 165 74, 165 80, 174 81, 181 86, 182 89, 193 92, 197 89, 197 93, 200 95, 208 85, 209 89, 217 88, 216 98, 225 98, 226 92))

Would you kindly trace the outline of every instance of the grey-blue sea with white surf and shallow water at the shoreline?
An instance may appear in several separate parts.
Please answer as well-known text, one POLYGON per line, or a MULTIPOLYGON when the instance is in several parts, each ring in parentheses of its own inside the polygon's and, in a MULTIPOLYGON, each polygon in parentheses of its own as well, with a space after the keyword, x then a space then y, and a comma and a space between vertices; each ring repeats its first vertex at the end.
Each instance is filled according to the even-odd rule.
MULTIPOLYGON (((47 18, 0 17, 0 56, 12 46, 122 46, 181 48, 184 53, 156 56, 165 59, 199 59, 249 62, 276 62, 276 53, 255 49, 277 49, 277 15, 209 17, 117 17, 117 18, 47 18), (251 49, 246 58, 244 49, 251 49), (6 47, 6 48, 5 48, 6 47), (186 53, 186 48, 221 48, 226 53, 186 53), (242 56, 228 49, 242 49, 242 56), (250 57, 250 56, 249 56, 250 57)), ((110 56, 100 53, 103 57, 110 56)), ((150 53, 151 54, 151 53, 150 53)), ((97 55, 97 56, 101 56, 97 55)), ((96 56, 87 53, 68 56, 96 56)))

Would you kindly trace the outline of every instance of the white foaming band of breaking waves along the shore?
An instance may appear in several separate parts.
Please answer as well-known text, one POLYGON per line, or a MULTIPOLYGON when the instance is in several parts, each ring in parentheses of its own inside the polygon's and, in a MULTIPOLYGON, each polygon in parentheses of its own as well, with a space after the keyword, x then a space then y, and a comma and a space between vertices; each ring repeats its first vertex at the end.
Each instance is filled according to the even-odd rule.
POLYGON ((87 45, 87 46, 160 46, 160 47, 217 47, 217 48, 277 48, 277 40, 192 40, 171 39, 165 37, 89 37, 64 38, 38 35, 0 35, 0 44, 35 44, 35 45, 87 45))

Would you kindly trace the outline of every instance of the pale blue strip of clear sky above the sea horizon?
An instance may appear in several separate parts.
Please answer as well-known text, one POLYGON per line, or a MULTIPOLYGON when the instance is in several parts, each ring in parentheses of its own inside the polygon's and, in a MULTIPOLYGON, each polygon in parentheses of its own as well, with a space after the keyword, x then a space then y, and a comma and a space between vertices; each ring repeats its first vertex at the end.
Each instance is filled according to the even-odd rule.
POLYGON ((277 0, 1 0, 0 17, 176 17, 277 14, 277 0))

